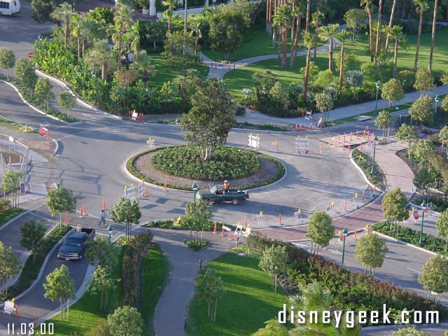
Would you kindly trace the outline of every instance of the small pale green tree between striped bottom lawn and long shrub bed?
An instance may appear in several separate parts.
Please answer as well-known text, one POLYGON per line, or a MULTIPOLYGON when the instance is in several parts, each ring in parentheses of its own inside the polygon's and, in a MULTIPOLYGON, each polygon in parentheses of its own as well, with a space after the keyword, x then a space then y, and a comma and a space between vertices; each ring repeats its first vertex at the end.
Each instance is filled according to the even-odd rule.
POLYGON ((286 246, 272 245, 265 248, 258 266, 268 272, 272 277, 272 290, 277 293, 278 276, 288 269, 288 253, 286 246))

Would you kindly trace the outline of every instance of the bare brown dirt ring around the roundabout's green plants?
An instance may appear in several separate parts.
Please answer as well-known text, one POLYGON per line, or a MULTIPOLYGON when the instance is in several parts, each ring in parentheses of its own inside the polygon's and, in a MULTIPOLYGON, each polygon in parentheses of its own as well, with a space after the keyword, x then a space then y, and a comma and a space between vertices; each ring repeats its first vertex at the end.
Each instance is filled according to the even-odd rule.
MULTIPOLYGON (((137 160, 134 161, 135 169, 137 169, 137 171, 153 181, 158 181, 160 183, 165 183, 165 181, 167 181, 167 183, 169 184, 183 188, 191 188, 191 185, 193 184, 193 182, 195 182, 200 189, 209 188, 209 186, 213 186, 214 184, 216 184, 217 186, 221 186, 224 182, 211 180, 190 180, 183 177, 172 176, 165 174, 164 172, 160 172, 160 170, 154 168, 153 163, 151 162, 151 158, 156 153, 158 152, 153 151, 150 153, 146 153, 144 155, 141 155, 139 158, 137 158, 137 160)), ((251 176, 246 176, 241 179, 228 180, 230 183, 230 188, 259 184, 272 179, 274 176, 276 176, 276 174, 279 173, 279 166, 276 164, 276 162, 262 155, 258 155, 258 159, 260 160, 260 168, 257 170, 257 172, 255 172, 255 174, 251 176)))

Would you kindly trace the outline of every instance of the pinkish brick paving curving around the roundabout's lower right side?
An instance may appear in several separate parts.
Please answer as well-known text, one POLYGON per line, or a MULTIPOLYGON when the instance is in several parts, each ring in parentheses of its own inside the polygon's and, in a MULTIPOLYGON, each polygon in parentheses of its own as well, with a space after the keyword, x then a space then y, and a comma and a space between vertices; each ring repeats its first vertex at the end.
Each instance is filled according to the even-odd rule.
MULTIPOLYGON (((403 148, 406 148, 405 145, 398 141, 381 146, 377 145, 375 160, 383 170, 384 176, 386 176, 386 191, 399 187, 409 200, 414 194, 414 192, 411 191, 414 186, 412 183, 414 173, 407 164, 395 154, 403 148)), ((372 152, 372 148, 367 149, 365 152, 372 152)), ((369 154, 372 155, 372 153, 369 154)), ((367 224, 370 225, 381 221, 383 219, 381 200, 382 195, 376 197, 375 200, 361 209, 335 218, 333 220, 333 225, 335 225, 336 228, 335 232, 342 230, 342 228, 346 228, 349 232, 360 230, 365 228, 365 225, 367 224)), ((307 239, 307 237, 305 237, 305 233, 307 233, 307 225, 300 225, 293 228, 260 230, 260 232, 267 235, 269 238, 283 241, 307 239)))

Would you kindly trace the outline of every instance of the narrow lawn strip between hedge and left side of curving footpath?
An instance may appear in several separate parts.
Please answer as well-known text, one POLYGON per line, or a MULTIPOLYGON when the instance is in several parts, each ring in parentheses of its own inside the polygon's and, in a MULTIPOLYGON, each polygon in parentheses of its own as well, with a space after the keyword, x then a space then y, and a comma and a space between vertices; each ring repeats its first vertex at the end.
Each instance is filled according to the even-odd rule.
POLYGON ((154 311, 168 281, 169 262, 160 251, 158 244, 153 244, 146 253, 141 267, 141 316, 145 320, 144 335, 155 335, 154 311))

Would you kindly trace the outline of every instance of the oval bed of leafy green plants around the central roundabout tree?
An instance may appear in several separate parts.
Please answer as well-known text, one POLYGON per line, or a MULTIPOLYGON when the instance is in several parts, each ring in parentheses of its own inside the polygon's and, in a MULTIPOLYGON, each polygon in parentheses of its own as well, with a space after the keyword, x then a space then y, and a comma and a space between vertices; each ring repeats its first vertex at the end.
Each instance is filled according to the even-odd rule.
POLYGON ((213 159, 202 162, 199 151, 192 146, 167 147, 151 158, 155 169, 166 174, 188 179, 224 180, 239 179, 254 174, 260 168, 260 160, 252 151, 218 146, 213 159))

